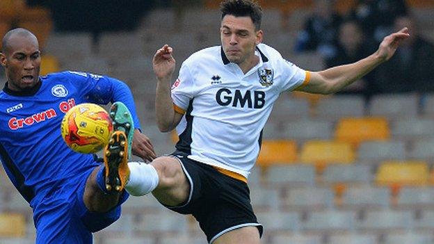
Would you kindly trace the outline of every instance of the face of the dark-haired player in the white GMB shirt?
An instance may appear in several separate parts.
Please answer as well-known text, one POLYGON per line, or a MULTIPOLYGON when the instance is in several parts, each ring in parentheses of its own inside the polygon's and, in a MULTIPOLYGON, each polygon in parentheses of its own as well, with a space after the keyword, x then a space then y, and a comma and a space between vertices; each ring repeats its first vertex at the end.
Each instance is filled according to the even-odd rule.
POLYGON ((250 17, 225 15, 220 26, 223 51, 230 62, 241 67, 252 63, 255 47, 262 41, 262 31, 256 31, 250 17))

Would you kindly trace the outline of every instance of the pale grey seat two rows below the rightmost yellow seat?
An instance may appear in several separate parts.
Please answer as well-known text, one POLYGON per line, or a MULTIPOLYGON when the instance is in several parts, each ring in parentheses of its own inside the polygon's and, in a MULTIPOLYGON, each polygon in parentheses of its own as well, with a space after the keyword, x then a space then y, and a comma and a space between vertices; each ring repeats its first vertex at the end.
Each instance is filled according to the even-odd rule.
POLYGON ((411 211, 392 211, 389 209, 367 211, 364 218, 356 223, 357 230, 381 233, 400 231, 413 226, 411 211))

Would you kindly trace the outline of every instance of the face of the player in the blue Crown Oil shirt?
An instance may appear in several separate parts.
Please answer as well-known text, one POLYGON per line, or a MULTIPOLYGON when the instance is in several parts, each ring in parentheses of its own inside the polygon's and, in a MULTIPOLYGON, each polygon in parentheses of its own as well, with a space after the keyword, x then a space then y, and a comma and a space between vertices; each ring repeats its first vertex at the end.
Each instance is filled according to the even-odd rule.
POLYGON ((33 88, 38 83, 40 71, 38 40, 14 35, 9 43, 8 50, 0 56, 0 63, 6 69, 8 88, 15 91, 33 88))

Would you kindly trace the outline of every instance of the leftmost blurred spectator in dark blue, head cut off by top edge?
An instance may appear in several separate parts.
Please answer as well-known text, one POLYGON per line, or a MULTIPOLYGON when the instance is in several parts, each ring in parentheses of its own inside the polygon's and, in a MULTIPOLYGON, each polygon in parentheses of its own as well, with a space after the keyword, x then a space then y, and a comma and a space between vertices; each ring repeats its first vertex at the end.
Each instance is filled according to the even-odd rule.
POLYGON ((295 51, 319 51, 323 57, 335 55, 337 28, 341 17, 334 11, 335 1, 315 0, 314 13, 298 34, 295 51))

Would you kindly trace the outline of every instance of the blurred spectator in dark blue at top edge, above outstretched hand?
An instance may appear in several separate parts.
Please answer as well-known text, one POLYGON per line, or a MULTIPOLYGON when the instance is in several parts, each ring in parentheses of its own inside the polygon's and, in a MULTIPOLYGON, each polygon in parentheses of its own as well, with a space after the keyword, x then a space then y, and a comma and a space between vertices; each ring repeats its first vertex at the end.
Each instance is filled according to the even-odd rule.
POLYGON ((380 42, 392 32, 396 17, 407 13, 405 0, 360 0, 351 15, 360 22, 364 33, 380 42))

